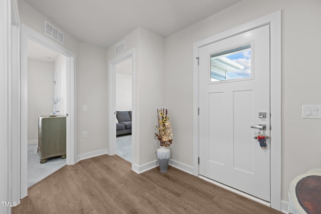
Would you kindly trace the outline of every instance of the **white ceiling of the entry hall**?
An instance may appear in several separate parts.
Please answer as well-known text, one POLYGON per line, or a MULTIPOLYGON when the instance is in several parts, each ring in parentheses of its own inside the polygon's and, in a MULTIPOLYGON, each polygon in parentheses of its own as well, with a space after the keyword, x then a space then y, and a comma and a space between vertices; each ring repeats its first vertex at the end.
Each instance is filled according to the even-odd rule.
MULTIPOLYGON (((25 0, 80 42, 108 48, 137 27, 170 36, 240 0, 25 0)), ((228 16, 228 15, 227 15, 228 16)))

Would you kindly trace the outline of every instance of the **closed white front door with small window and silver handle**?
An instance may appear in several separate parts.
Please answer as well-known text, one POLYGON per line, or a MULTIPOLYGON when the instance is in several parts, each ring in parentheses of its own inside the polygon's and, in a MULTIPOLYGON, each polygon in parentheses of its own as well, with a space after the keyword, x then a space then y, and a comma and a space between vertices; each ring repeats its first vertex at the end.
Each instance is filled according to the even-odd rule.
POLYGON ((199 106, 200 175, 270 201, 269 25, 199 48, 199 106))

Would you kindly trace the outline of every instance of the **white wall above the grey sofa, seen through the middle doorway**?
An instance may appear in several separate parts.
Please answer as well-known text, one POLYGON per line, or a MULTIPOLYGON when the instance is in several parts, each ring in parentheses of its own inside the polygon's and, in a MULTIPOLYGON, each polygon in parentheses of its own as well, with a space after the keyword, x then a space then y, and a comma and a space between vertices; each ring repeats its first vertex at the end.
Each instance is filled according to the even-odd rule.
MULTIPOLYGON (((131 67, 130 67, 131 69, 131 67)), ((117 73, 116 67, 116 110, 131 111, 131 75, 117 73)))

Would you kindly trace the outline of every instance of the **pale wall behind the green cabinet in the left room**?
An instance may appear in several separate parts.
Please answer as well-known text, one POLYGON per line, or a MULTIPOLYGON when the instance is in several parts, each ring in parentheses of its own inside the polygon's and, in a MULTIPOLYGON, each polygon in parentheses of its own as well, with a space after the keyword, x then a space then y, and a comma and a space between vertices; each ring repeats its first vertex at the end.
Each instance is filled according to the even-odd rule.
POLYGON ((53 111, 54 63, 28 59, 28 143, 38 143, 38 116, 53 111))

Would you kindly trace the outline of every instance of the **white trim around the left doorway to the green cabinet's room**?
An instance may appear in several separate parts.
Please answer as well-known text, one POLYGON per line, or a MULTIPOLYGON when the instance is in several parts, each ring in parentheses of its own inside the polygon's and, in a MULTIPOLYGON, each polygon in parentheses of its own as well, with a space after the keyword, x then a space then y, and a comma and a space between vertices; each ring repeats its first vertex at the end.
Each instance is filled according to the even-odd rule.
MULTIPOLYGON (((77 153, 77 133, 76 133, 76 54, 66 49, 65 47, 55 43, 41 33, 29 28, 28 26, 21 25, 21 74, 20 74, 20 97, 21 106, 18 110, 20 112, 20 145, 21 155, 18 156, 18 162, 20 162, 20 198, 27 196, 28 194, 28 155, 27 155, 27 41, 28 39, 34 40, 39 44, 55 50, 61 54, 67 56, 67 113, 69 120, 67 119, 67 141, 66 141, 66 163, 68 165, 76 163, 77 153), (69 59, 69 60, 68 60, 69 59)), ((18 112, 18 114, 19 114, 18 112)))

